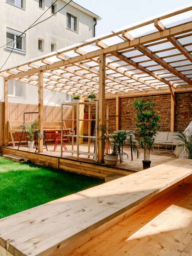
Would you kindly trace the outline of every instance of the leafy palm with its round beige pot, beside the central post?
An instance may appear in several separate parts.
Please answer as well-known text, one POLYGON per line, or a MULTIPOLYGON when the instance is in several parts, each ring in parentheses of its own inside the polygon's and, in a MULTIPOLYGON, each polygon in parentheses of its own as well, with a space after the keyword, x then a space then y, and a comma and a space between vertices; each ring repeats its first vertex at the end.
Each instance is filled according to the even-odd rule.
MULTIPOLYGON (((104 133, 104 135, 100 139, 103 140, 103 143, 110 145, 112 148, 111 154, 105 154, 105 164, 115 166, 118 161, 120 147, 125 143, 127 137, 131 134, 126 131, 114 131, 113 133, 111 133, 105 125, 100 126, 99 130, 104 133)), ((129 142, 130 141, 128 140, 128 144, 129 142)), ((136 143, 131 143, 130 146, 133 148, 134 153, 137 152, 138 157, 140 153, 136 143)))

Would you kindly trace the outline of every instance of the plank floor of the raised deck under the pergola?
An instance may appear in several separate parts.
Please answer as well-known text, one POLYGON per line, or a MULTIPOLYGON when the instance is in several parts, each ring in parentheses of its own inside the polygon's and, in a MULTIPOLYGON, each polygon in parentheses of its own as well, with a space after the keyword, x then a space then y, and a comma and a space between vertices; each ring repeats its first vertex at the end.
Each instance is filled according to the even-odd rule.
MULTIPOLYGON (((71 150, 71 145, 69 143, 66 143, 67 145, 67 150, 71 150)), ((10 146, 9 148, 13 148, 12 146, 10 146)), ((53 144, 48 144, 48 151, 46 149, 44 149, 43 153, 38 153, 38 154, 46 154, 47 156, 54 156, 54 157, 60 157, 61 156, 61 146, 58 145, 57 149, 55 151, 53 151, 54 145, 53 144)), ((20 147, 19 148, 22 151, 28 151, 28 149, 26 147, 20 147)), ((74 150, 76 150, 76 145, 74 146, 74 150)), ((83 152, 87 152, 87 144, 81 144, 79 147, 79 151, 83 151, 83 152)), ((129 171, 142 171, 143 170, 143 150, 140 150, 141 155, 140 158, 137 159, 137 157, 134 155, 133 156, 133 161, 131 161, 131 151, 130 148, 123 148, 123 151, 125 151, 125 153, 128 154, 128 159, 127 156, 124 155, 123 156, 123 162, 122 163, 117 163, 116 168, 119 169, 125 169, 125 170, 129 170, 129 171)), ((35 151, 32 151, 35 152, 35 151)), ((94 145, 91 144, 90 146, 90 152, 94 153, 94 145)), ((72 154, 69 152, 65 152, 63 153, 63 157, 67 157, 70 159, 76 159, 76 154, 72 154)), ((157 166, 161 163, 166 163, 167 161, 170 161, 172 159, 175 159, 175 155, 172 154, 171 152, 165 152, 165 151, 160 151, 158 154, 157 150, 154 150, 153 152, 151 152, 151 167, 153 166, 157 166)), ((90 163, 94 163, 93 160, 93 156, 90 156, 90 158, 88 158, 85 155, 81 155, 80 159, 81 161, 89 161, 90 163)))

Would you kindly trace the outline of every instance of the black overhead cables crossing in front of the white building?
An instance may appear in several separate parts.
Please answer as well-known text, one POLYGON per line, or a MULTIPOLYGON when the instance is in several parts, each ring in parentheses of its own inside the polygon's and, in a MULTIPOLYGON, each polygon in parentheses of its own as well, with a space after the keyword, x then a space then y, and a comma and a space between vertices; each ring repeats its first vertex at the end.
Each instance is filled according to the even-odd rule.
MULTIPOLYGON (((52 3, 52 5, 54 5, 57 1, 58 1, 58 0, 55 0, 55 2, 52 3)), ((72 1, 73 1, 73 0, 70 0, 69 3, 71 3, 72 1)), ((50 15, 50 16, 47 17, 46 19, 41 20, 40 22, 36 23, 36 22, 52 7, 52 5, 49 6, 49 8, 48 8, 45 12, 43 12, 43 14, 42 14, 40 17, 38 17, 38 19, 35 20, 35 21, 31 24, 31 26, 29 26, 28 29, 26 29, 24 32, 22 32, 22 34, 19 35, 19 36, 16 38, 16 40, 14 39, 14 40, 10 41, 9 43, 7 43, 7 44, 1 46, 0 49, 1 49, 2 47, 5 47, 6 45, 10 44, 11 42, 15 41, 15 43, 14 43, 12 49, 11 49, 11 52, 9 53, 9 55, 8 55, 8 57, 7 57, 7 59, 6 59, 6 61, 5 61, 5 62, 3 63, 3 65, 0 67, 0 70, 5 66, 5 64, 6 64, 7 61, 9 60, 9 57, 10 57, 10 55, 11 55, 12 52, 13 52, 13 49, 14 49, 14 47, 15 47, 15 44, 17 43, 17 40, 18 40, 26 31, 28 31, 29 29, 32 29, 33 27, 37 26, 39 23, 42 23, 42 22, 44 22, 45 20, 48 20, 49 18, 51 18, 52 16, 54 16, 55 14, 57 14, 58 12, 60 12, 62 9, 64 9, 69 3, 67 3, 65 6, 63 6, 61 9, 59 9, 57 12, 55 12, 55 13, 52 14, 52 15, 50 15), (35 24, 35 23, 36 23, 36 24, 35 24)))

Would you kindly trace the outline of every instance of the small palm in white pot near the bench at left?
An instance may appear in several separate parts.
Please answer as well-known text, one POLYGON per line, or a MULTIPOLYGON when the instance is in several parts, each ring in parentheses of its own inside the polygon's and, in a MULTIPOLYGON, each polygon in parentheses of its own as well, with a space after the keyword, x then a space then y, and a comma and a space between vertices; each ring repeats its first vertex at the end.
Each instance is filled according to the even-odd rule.
POLYGON ((31 149, 34 146, 34 136, 38 139, 42 139, 42 135, 40 134, 38 128, 38 122, 32 122, 31 124, 28 123, 23 123, 23 125, 21 125, 22 128, 24 128, 26 130, 26 132, 28 132, 28 147, 31 149))

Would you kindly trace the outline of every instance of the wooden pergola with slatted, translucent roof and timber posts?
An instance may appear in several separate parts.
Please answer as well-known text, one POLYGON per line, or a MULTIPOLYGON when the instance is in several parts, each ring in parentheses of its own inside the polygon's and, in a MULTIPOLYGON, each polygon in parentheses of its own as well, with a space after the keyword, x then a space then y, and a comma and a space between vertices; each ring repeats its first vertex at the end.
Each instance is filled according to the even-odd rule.
MULTIPOLYGON (((51 52, 0 71, 4 77, 5 127, 8 80, 38 86, 39 129, 43 130, 43 88, 60 93, 98 95, 99 125, 106 98, 170 93, 174 129, 175 93, 192 91, 192 6, 136 23, 101 37, 51 52)), ((118 119, 118 114, 116 119, 118 119)), ((5 128, 6 131, 6 128, 5 128)), ((99 136, 101 136, 99 131, 99 136)), ((4 144, 8 142, 5 132, 4 144)), ((39 151, 42 151, 42 141, 39 151)), ((104 157, 99 140, 98 159, 104 157)))

